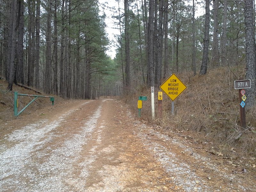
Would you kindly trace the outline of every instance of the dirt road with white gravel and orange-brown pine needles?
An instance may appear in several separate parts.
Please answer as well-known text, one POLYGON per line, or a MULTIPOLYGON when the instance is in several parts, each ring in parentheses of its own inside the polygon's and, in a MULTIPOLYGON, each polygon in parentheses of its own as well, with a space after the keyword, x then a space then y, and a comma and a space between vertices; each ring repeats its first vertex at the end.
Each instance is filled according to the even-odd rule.
POLYGON ((256 191, 246 172, 143 124, 118 100, 65 103, 0 126, 0 192, 256 191))

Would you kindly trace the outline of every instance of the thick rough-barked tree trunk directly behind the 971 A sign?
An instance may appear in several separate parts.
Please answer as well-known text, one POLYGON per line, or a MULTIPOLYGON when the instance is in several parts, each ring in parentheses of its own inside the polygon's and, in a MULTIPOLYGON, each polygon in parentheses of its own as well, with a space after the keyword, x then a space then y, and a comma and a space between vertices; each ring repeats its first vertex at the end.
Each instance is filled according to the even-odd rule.
POLYGON ((246 89, 246 107, 255 105, 256 96, 256 47, 253 22, 253 0, 245 1, 245 52, 246 79, 251 79, 251 88, 246 89))

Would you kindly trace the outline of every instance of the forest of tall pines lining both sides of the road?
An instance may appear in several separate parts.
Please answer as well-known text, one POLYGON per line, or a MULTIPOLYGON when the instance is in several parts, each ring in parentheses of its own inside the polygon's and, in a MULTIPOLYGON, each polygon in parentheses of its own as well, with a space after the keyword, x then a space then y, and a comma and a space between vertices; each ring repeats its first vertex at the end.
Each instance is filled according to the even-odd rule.
MULTIPOLYGON (((63 98, 96 99, 159 87, 172 73, 243 67, 255 102, 253 0, 1 0, 0 77, 63 98), (116 57, 106 51, 115 20, 116 57), (196 16, 197 10, 204 14, 196 16)), ((113 42, 112 42, 113 44, 113 42)), ((238 80, 238 79, 237 79, 238 80)))

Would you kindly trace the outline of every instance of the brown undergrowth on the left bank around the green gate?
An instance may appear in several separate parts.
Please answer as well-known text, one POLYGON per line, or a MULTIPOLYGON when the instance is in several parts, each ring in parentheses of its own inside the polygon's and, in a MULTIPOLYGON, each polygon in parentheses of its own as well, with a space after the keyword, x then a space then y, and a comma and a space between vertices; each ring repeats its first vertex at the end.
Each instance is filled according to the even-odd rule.
MULTIPOLYGON (((13 84, 12 91, 7 91, 8 83, 7 81, 0 79, 0 124, 4 123, 6 121, 12 120, 14 118, 13 115, 13 100, 14 100, 14 92, 17 91, 18 93, 22 94, 30 94, 30 95, 43 95, 43 96, 54 96, 55 102, 60 103, 63 99, 60 97, 56 97, 55 95, 49 95, 44 92, 42 94, 36 93, 32 90, 24 89, 20 86, 17 86, 13 84)), ((30 96, 18 96, 18 103, 19 108, 18 111, 23 109, 31 100, 33 100, 34 97, 30 96)), ((34 113, 38 109, 42 109, 48 106, 52 106, 52 102, 49 98, 37 98, 33 103, 31 103, 28 108, 26 108, 20 116, 23 115, 29 115, 31 113, 34 113)), ((41 114, 44 115, 44 114, 41 114)))

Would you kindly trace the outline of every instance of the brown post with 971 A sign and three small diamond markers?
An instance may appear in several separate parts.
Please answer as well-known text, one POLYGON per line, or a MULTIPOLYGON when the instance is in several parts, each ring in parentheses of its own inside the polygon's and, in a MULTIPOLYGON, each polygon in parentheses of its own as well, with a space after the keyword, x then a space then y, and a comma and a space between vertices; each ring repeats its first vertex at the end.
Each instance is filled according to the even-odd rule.
POLYGON ((251 79, 249 80, 239 80, 234 82, 235 89, 238 89, 238 95, 239 95, 239 108, 240 108, 240 122, 241 126, 246 129, 246 120, 245 120, 245 90, 251 88, 251 79))

